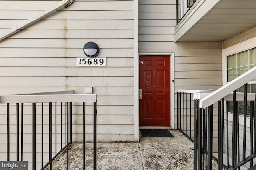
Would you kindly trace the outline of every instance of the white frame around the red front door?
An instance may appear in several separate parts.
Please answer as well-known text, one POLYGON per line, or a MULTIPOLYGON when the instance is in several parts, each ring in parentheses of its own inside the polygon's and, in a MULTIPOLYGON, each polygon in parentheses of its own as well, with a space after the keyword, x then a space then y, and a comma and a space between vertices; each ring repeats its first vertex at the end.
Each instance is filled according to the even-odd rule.
MULTIPOLYGON (((138 56, 138 61, 139 61, 139 57, 140 56, 143 56, 143 55, 152 55, 152 56, 161 56, 161 55, 168 55, 170 56, 170 125, 171 125, 171 128, 174 129, 174 109, 175 109, 175 105, 174 105, 174 99, 175 99, 175 91, 174 91, 174 87, 175 87, 175 82, 174 82, 174 53, 139 53, 139 56, 138 56)), ((137 63, 139 64, 139 62, 137 63)), ((137 65, 137 73, 134 77, 135 79, 139 79, 139 67, 137 65)), ((138 88, 139 87, 139 81, 138 81, 138 84, 136 84, 135 88, 138 88)), ((136 92, 138 92, 138 89, 135 89, 136 92)), ((136 95, 138 96, 138 95, 136 95)), ((135 100, 136 102, 139 102, 139 100, 135 100)), ((139 106, 139 103, 136 104, 136 106, 139 106)), ((136 111, 135 111, 135 120, 134 120, 134 123, 136 124, 135 125, 135 131, 139 131, 139 107, 136 108, 136 111), (136 113, 137 112, 137 113, 136 113)))

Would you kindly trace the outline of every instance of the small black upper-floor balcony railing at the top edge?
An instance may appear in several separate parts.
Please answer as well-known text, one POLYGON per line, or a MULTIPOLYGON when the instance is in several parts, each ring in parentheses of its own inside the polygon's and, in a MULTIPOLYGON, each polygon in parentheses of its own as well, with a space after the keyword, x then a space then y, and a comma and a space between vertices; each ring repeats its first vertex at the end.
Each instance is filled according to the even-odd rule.
POLYGON ((177 24, 186 15, 188 10, 193 6, 196 0, 177 0, 176 8, 177 8, 177 24))

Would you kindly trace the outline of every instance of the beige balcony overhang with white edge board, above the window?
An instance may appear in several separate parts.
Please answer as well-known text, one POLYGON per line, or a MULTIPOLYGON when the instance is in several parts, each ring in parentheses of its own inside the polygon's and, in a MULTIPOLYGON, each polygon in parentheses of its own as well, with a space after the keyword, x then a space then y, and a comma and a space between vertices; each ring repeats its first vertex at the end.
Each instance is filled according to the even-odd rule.
POLYGON ((174 41, 223 41, 256 25, 256 2, 197 0, 174 30, 174 41))

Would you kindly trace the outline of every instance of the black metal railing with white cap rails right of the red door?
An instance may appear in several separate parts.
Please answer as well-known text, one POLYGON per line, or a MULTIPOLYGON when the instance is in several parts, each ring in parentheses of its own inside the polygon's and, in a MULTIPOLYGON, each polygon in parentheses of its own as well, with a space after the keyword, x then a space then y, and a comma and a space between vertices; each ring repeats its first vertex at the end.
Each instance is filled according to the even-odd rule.
MULTIPOLYGON (((247 83, 254 78, 256 67, 215 92, 191 94, 194 98, 194 119, 184 122, 177 119, 177 123, 178 129, 181 129, 182 123, 188 123, 183 127, 193 128, 194 170, 211 170, 213 158, 218 160, 219 169, 256 168, 256 92, 247 91, 247 83), (238 88, 243 88, 244 92, 238 93, 238 88), (243 113, 239 114, 241 110, 243 113)), ((177 101, 191 93, 189 90, 177 91, 177 101), (179 94, 180 91, 188 94, 179 94)), ((186 106, 192 108, 191 100, 182 100, 184 104, 178 102, 181 103, 177 104, 179 117, 187 114, 186 106)), ((187 136, 192 134, 184 128, 181 130, 187 136)))

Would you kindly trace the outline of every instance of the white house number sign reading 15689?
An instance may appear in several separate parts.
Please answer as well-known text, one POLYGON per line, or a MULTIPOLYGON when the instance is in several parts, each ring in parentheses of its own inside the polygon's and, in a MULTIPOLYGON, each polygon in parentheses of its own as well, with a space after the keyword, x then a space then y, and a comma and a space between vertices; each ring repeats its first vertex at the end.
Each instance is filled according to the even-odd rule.
POLYGON ((77 66, 106 66, 106 58, 77 58, 77 66))

